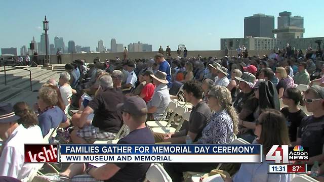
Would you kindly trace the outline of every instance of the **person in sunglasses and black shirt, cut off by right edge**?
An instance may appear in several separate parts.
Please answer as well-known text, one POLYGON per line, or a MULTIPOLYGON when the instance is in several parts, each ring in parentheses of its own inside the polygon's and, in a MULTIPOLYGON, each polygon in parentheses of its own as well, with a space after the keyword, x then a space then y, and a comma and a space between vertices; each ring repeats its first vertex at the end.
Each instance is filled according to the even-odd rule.
POLYGON ((304 99, 308 112, 313 115, 304 117, 300 123, 297 140, 292 145, 308 147, 309 160, 307 164, 312 165, 314 161, 324 162, 322 149, 324 145, 324 87, 313 85, 305 92, 304 99))

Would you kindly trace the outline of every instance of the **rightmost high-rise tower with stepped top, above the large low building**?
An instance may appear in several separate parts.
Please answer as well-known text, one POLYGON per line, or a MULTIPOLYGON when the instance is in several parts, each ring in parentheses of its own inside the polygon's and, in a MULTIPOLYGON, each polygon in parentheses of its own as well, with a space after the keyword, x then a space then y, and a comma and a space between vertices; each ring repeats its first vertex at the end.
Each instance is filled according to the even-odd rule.
POLYGON ((291 17, 291 12, 281 12, 278 17, 278 28, 272 30, 277 34, 277 38, 303 38, 304 18, 301 16, 291 17))

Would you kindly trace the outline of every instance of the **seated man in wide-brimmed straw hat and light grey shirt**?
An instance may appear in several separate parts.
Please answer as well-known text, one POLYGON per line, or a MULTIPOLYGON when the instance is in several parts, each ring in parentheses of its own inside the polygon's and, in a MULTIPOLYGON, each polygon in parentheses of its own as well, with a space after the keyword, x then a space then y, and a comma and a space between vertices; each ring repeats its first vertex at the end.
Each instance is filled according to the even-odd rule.
POLYGON ((171 101, 167 84, 167 74, 165 72, 156 71, 152 74, 154 89, 152 99, 147 103, 148 120, 160 121, 165 119, 165 111, 171 101))

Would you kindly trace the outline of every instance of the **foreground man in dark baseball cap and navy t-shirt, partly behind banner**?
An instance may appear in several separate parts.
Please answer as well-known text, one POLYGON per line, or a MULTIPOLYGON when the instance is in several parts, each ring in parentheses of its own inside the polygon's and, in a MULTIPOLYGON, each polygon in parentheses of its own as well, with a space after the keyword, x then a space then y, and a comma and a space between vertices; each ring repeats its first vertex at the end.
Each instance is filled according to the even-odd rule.
MULTIPOLYGON (((130 97, 124 104, 118 104, 117 108, 123 112, 124 124, 130 128, 130 133, 120 139, 117 144, 154 144, 152 132, 146 128, 145 120, 147 107, 140 97, 130 97)), ((109 163, 100 167, 86 167, 85 164, 71 164, 60 176, 36 176, 35 179, 56 179, 58 177, 72 178, 74 181, 129 181, 142 182, 150 163, 109 163), (77 176, 78 174, 89 174, 77 176)), ((61 179, 62 180, 62 179, 61 179)), ((38 180, 36 180, 38 181, 38 180)), ((42 180, 45 181, 45 180, 42 180)))

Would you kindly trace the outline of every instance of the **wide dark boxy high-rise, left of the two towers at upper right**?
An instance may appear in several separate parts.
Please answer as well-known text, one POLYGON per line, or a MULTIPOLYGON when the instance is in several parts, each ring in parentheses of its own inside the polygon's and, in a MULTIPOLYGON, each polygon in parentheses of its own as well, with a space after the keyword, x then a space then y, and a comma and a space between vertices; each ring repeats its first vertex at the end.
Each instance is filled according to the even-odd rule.
POLYGON ((270 37, 274 38, 274 16, 254 14, 244 18, 244 37, 270 37))

